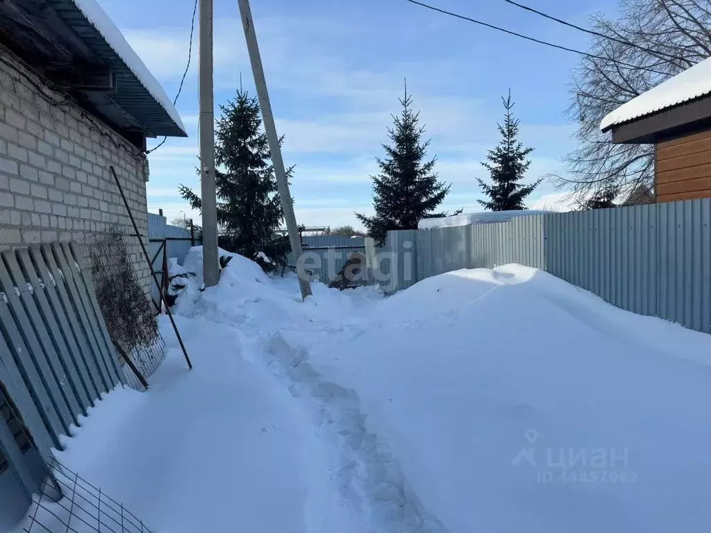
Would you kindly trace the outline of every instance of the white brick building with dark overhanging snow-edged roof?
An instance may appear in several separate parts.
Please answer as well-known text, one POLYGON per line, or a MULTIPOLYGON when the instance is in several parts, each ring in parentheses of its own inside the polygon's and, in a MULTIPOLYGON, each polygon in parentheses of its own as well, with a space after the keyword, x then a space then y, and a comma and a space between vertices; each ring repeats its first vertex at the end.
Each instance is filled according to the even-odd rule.
POLYGON ((0 251, 133 234, 112 165, 145 238, 146 137, 186 136, 162 87, 94 0, 4 0, 0 30, 0 251))

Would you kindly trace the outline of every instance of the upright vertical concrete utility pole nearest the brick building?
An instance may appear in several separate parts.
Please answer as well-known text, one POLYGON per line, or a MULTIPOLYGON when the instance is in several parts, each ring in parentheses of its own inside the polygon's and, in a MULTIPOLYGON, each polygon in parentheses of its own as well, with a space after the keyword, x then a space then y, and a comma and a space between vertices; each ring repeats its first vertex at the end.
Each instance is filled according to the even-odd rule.
POLYGON ((203 201, 203 279, 206 287, 217 285, 219 276, 213 107, 213 0, 200 0, 200 189, 203 201))

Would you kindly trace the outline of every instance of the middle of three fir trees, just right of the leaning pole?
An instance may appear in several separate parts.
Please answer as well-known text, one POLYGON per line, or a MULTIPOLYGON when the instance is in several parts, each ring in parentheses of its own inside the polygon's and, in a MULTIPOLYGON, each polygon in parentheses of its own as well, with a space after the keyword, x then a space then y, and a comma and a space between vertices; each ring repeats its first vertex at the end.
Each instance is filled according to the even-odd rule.
POLYGON ((393 126, 387 129, 392 146, 383 144, 386 158, 378 158, 380 173, 373 179, 375 216, 355 213, 368 229, 368 235, 385 241, 389 230, 416 230, 422 218, 444 216, 434 210, 444 201, 450 185, 437 179, 436 158, 425 160, 429 140, 422 142, 424 126, 419 126, 419 112, 412 110, 412 97, 400 99, 402 111, 392 116, 393 126))

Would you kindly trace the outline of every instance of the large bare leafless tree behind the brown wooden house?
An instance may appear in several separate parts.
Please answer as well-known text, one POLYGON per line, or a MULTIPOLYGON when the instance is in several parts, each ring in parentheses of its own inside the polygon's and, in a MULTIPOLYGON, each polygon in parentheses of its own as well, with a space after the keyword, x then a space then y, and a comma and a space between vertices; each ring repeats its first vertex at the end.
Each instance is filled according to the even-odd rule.
POLYGON ((574 70, 568 114, 578 122, 578 148, 557 185, 585 198, 610 188, 653 187, 653 146, 612 144, 599 125, 609 112, 711 55, 708 0, 621 0, 616 21, 592 16, 591 53, 574 70), (629 68, 620 63, 638 65, 629 68))

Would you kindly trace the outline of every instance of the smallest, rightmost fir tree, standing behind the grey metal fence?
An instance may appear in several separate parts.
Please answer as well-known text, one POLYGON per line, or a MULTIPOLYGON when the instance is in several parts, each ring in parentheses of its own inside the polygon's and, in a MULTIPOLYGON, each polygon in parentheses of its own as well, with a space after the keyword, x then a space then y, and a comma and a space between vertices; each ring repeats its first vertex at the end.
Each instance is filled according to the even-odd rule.
POLYGON ((528 171, 531 162, 526 158, 533 151, 533 148, 524 148, 518 141, 518 119, 514 119, 511 114, 513 102, 511 102, 511 91, 508 97, 501 97, 503 107, 506 109, 506 118, 503 124, 497 124, 498 131, 503 139, 495 149, 489 150, 486 154, 487 161, 481 163, 491 176, 492 185, 487 185, 483 180, 477 178, 483 192, 489 200, 477 200, 484 208, 492 211, 515 211, 526 209, 523 200, 533 193, 542 180, 538 180, 530 185, 523 185, 520 181, 528 171))

